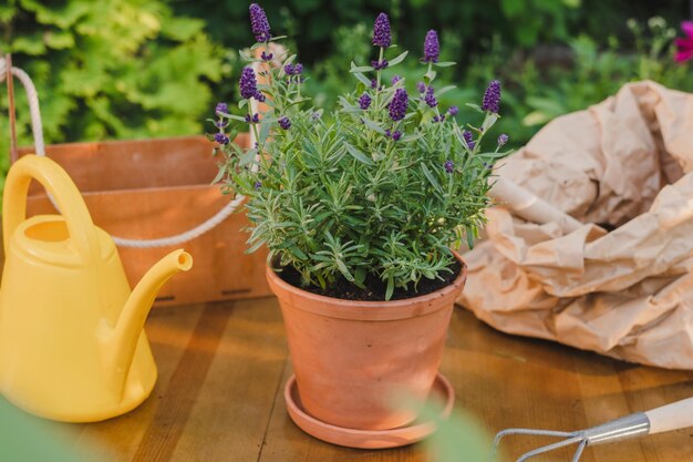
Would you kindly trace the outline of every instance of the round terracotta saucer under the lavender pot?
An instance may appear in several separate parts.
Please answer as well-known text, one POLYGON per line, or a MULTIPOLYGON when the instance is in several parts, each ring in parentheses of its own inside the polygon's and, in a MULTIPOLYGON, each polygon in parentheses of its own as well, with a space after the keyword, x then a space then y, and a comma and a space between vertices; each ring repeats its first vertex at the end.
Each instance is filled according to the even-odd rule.
MULTIPOLYGON (((455 402, 453 387, 445 377, 438 373, 431 393, 445 403, 441 417, 447 418, 455 402)), ((283 394, 291 420, 306 433, 332 444, 360 449, 400 448, 418 442, 435 430, 433 422, 413 422, 411 425, 392 430, 355 430, 324 423, 308 415, 303 410, 296 386, 296 376, 291 376, 287 382, 283 394)))

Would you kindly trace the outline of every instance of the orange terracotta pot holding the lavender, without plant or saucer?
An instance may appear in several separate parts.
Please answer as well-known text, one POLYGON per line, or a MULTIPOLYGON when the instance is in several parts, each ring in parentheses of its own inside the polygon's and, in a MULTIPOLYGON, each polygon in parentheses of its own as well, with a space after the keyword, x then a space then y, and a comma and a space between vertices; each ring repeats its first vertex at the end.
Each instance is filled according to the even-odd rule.
POLYGON ((426 399, 466 278, 463 264, 453 284, 435 292, 350 301, 301 290, 268 266, 306 411, 348 429, 387 430, 412 422, 415 414, 394 410, 389 400, 394 390, 426 399))

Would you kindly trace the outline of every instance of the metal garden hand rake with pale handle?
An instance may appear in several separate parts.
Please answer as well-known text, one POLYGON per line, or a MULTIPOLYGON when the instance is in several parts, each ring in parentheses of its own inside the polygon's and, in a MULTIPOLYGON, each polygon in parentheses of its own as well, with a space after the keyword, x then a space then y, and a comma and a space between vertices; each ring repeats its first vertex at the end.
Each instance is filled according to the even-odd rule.
POLYGON ((576 453, 572 456, 572 462, 578 462, 582 455, 582 451, 585 451, 585 448, 588 445, 611 443, 630 438, 685 429, 687 427, 693 427, 693 398, 663 405, 651 411, 630 414, 621 419, 602 423, 601 425, 575 432, 532 429, 503 430, 496 434, 496 438, 494 439, 492 460, 496 460, 496 453, 498 451, 500 440, 505 437, 514 434, 563 438, 562 441, 526 452, 517 459, 517 462, 524 462, 535 455, 544 454, 571 444, 578 445, 576 453))

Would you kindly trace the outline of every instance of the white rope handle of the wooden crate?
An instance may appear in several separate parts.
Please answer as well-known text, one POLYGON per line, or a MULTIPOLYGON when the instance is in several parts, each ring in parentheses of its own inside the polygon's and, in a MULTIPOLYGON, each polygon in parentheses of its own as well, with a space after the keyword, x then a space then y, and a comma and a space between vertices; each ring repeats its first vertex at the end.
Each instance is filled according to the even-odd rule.
MULTIPOLYGON (((0 82, 4 79, 7 74, 7 63, 4 58, 0 58, 0 82)), ((43 143, 43 125, 41 123, 41 110, 39 107, 39 95, 37 93, 37 89, 31 81, 29 74, 27 74, 21 69, 12 66, 12 74, 15 75, 19 81, 24 86, 27 91, 27 97, 29 99, 29 110, 31 113, 31 127, 33 130, 33 141, 34 148, 37 155, 45 156, 45 148, 43 143)), ((254 135, 250 135, 251 146, 255 145, 254 135)), ((252 171, 257 172, 257 161, 259 156, 256 156, 256 163, 252 165, 252 171)), ((60 212, 58 205, 53 197, 49 194, 49 198, 56 211, 60 212)), ((193 240, 196 237, 201 236, 208 230, 216 227, 218 224, 228 218, 236 209, 242 204, 245 201, 245 196, 238 196, 232 199, 229 204, 224 206, 219 212, 217 212, 213 217, 207 219, 206 222, 195 226, 193 229, 189 229, 185 233, 180 233, 174 236, 162 237, 156 239, 128 239, 124 237, 112 236, 113 240, 117 246, 121 247, 135 247, 135 248, 152 248, 152 247, 167 247, 167 246, 176 246, 183 243, 187 243, 188 240, 193 240)))

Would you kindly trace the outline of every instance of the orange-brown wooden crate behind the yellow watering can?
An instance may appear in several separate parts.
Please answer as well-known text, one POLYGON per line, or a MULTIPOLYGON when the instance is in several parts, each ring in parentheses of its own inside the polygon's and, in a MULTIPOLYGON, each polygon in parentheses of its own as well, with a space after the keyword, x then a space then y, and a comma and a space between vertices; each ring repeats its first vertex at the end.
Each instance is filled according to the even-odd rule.
MULTIPOLYGON (((240 135, 237 143, 247 146, 240 135)), ((70 174, 94 224, 125 238, 159 238, 190 229, 216 214, 229 197, 210 182, 217 174, 213 143, 201 136, 146 141, 73 143, 46 146, 46 155, 70 174)), ((20 150, 20 155, 31 153, 20 150)), ((35 182, 34 182, 35 183, 35 182)), ((43 188, 33 184, 28 214, 54 214, 43 188)), ((131 285, 168 251, 183 247, 194 267, 161 290, 155 306, 262 297, 267 253, 246 255, 248 225, 236 213, 216 228, 172 247, 127 248, 118 253, 131 285)))

